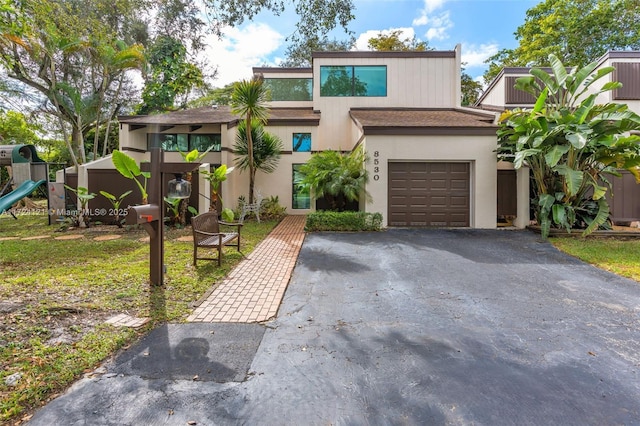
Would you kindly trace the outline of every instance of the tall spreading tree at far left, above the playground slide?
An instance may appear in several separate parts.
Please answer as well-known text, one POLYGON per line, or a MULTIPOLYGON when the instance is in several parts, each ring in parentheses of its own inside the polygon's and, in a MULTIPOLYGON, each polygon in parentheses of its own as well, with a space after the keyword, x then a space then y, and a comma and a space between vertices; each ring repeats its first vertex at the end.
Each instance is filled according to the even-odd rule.
POLYGON ((118 10, 120 2, 12 4, 2 19, 18 24, 0 36, 0 65, 9 78, 39 94, 40 109, 58 120, 77 166, 86 160, 86 132, 103 121, 107 91, 122 73, 137 66, 141 49, 117 42, 105 21, 105 16, 115 15, 103 11, 118 10))

